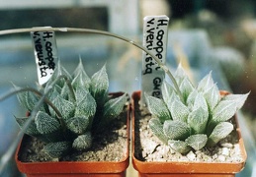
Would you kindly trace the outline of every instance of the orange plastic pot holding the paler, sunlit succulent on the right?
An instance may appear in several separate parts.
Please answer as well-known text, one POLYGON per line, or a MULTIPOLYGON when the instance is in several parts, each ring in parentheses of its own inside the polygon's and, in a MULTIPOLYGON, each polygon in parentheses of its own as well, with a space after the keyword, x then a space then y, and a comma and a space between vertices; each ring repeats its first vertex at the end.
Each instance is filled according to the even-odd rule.
MULTIPOLYGON (((220 92, 226 94, 227 92, 220 92)), ((224 163, 224 162, 145 162, 140 161, 134 156, 134 140, 135 128, 134 120, 138 119, 135 117, 135 108, 138 106, 138 100, 140 99, 140 91, 132 93, 131 96, 131 111, 132 111, 132 164, 133 167, 138 171, 140 177, 164 177, 164 176, 176 176, 176 177, 187 177, 187 176, 204 176, 204 177, 231 177, 235 176, 244 168, 246 160, 246 151, 244 148, 243 140, 241 138, 240 129, 237 124, 236 132, 239 138, 239 147, 243 160, 237 163, 224 163)), ((237 118, 236 118, 237 119, 237 118)))

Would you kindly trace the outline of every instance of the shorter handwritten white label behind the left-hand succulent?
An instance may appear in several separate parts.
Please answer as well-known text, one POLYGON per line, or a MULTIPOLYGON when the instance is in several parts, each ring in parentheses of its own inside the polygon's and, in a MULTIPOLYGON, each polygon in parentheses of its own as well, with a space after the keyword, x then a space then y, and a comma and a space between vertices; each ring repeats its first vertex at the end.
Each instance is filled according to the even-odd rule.
POLYGON ((46 29, 31 32, 40 85, 50 79, 58 59, 55 33, 46 29))

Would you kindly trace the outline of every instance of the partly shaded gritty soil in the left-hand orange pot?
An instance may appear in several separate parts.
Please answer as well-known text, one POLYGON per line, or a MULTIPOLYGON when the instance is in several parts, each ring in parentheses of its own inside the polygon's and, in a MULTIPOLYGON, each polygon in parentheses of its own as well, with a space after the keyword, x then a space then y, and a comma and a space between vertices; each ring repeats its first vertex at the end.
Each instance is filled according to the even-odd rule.
POLYGON ((24 162, 34 161, 120 161, 128 151, 127 112, 111 123, 99 135, 94 136, 92 147, 86 151, 72 151, 59 159, 52 159, 43 152, 43 142, 25 136, 19 158, 24 162))

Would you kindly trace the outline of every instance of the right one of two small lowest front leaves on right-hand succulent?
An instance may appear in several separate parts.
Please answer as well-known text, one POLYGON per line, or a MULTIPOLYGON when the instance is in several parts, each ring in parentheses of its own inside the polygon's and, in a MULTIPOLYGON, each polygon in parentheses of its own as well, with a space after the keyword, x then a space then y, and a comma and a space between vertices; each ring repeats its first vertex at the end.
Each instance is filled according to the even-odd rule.
POLYGON ((200 150, 207 145, 208 136, 205 134, 197 134, 188 137, 185 142, 195 150, 200 150))

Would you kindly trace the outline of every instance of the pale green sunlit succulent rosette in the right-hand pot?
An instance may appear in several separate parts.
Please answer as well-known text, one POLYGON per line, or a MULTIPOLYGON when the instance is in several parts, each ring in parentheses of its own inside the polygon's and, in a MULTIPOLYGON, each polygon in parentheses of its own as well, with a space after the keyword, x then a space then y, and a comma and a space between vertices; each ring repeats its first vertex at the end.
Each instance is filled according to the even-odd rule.
POLYGON ((249 93, 221 96, 211 73, 194 87, 181 65, 174 78, 180 94, 166 81, 161 88, 163 99, 145 94, 152 114, 149 128, 180 153, 215 146, 234 129, 230 119, 249 93))

